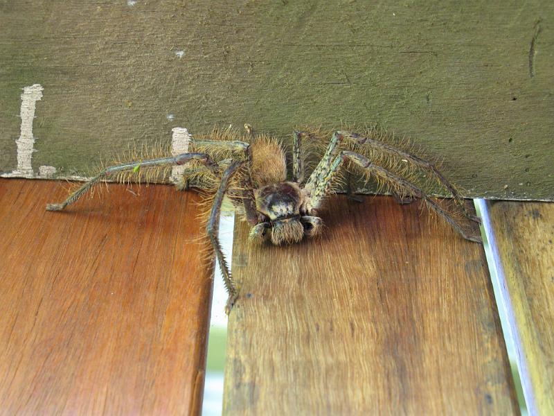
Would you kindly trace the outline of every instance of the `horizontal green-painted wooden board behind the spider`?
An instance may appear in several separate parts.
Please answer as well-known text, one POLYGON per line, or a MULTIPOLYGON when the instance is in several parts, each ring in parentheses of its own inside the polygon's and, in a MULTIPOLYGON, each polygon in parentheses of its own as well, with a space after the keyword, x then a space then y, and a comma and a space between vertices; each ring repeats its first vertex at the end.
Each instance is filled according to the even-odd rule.
POLYGON ((469 196, 554 199, 551 0, 4 0, 0 62, 0 173, 39 84, 33 175, 175 126, 377 123, 469 196))

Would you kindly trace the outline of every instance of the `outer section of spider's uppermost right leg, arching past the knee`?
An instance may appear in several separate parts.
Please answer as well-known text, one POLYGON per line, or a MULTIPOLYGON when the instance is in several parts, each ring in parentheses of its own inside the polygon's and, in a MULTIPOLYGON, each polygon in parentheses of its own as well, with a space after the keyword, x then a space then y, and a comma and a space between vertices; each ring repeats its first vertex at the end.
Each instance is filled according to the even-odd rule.
POLYGON ((405 150, 395 148, 394 146, 391 146, 390 144, 386 144, 383 141, 379 141, 376 139, 371 139, 370 137, 363 137, 357 133, 354 132, 338 132, 339 135, 343 137, 348 137, 350 139, 354 139, 358 144, 366 144, 372 148, 379 149, 382 151, 385 151, 387 153, 393 153, 394 155, 397 155, 399 157, 402 157, 402 159, 409 160, 409 162, 412 162, 416 166, 420 166, 420 168, 424 169, 425 171, 429 172, 431 175, 433 175, 438 182, 445 187, 445 189, 452 195, 452 199, 458 205, 458 207, 461 209, 463 216, 465 218, 472 220, 476 223, 481 223, 481 218, 478 216, 474 216, 467 212, 467 209, 465 209, 465 205, 463 203, 463 198, 459 195, 458 191, 456 191, 456 188, 452 186, 450 182, 443 176, 440 171, 434 166, 434 164, 431 164, 430 162, 427 162, 427 160, 422 159, 421 157, 412 155, 409 152, 406 152, 405 150))

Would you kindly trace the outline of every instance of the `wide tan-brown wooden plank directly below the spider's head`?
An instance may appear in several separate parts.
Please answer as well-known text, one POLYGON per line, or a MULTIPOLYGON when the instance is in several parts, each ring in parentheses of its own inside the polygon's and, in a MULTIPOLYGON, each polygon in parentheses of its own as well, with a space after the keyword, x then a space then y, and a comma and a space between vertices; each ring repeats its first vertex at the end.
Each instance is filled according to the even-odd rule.
POLYGON ((483 248, 416 205, 333 198, 289 247, 236 223, 226 415, 519 414, 483 248))

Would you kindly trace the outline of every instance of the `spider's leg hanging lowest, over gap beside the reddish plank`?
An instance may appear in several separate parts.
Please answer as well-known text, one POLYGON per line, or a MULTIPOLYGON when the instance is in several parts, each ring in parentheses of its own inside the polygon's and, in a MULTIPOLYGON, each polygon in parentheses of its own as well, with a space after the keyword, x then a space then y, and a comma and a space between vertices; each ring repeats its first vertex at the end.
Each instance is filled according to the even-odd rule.
POLYGON ((223 254, 217 232, 220 229, 221 205, 223 202, 223 197, 225 196, 225 193, 229 190, 229 183, 231 182, 233 175, 237 173, 242 164, 244 164, 244 162, 242 161, 232 162, 229 167, 225 169, 221 178, 220 187, 217 189, 217 193, 215 194, 215 199, 213 201, 210 213, 210 219, 208 220, 208 225, 206 226, 206 232, 210 237, 210 241, 213 245, 213 250, 215 251, 215 256, 217 257, 217 261, 220 262, 220 268, 223 275, 223 281, 226 291, 227 293, 229 293, 229 300, 227 300, 227 305, 225 308, 225 311, 228 315, 231 311, 231 308, 233 308, 233 304, 235 304, 235 301, 237 300, 238 293, 237 286, 231 275, 231 270, 229 270, 229 264, 227 263, 223 254))

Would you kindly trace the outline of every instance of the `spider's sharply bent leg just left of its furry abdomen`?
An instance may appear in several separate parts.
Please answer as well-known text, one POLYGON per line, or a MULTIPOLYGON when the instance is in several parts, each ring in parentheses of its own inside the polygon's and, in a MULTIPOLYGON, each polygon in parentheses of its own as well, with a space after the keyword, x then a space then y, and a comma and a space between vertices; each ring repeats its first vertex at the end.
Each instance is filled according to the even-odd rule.
POLYGON ((258 211, 256 210, 256 198, 254 197, 254 186, 252 182, 252 150, 249 143, 240 140, 209 140, 209 139, 193 139, 195 147, 215 153, 242 152, 244 153, 244 162, 247 166, 247 175, 242 177, 240 188, 242 195, 239 198, 229 196, 231 200, 242 203, 244 207, 244 215, 250 225, 258 224, 258 211), (240 201, 238 201, 240 199, 240 201))

